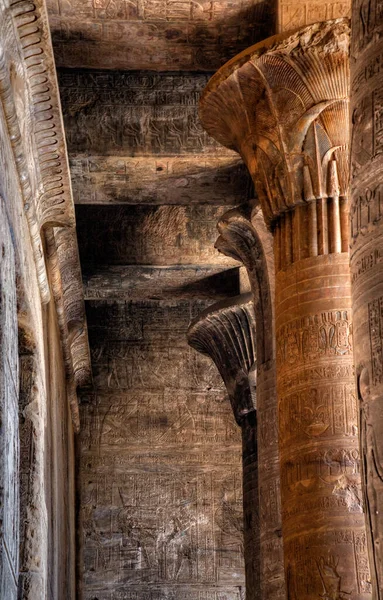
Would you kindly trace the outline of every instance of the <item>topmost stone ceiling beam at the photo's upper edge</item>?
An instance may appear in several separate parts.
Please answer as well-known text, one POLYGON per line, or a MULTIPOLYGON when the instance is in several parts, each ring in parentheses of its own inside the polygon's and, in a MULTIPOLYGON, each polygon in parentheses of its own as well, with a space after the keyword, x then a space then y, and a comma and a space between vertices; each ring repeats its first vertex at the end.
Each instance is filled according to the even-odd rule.
POLYGON ((48 0, 59 66, 213 71, 273 33, 259 0, 48 0))

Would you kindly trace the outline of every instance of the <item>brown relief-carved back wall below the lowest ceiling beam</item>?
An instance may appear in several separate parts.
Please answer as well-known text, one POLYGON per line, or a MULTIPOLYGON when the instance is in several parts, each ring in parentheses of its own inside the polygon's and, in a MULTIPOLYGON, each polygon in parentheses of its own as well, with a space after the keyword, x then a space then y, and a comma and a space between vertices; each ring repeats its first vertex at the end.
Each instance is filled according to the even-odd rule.
POLYGON ((187 346, 206 302, 87 303, 84 599, 244 591, 241 440, 214 365, 187 346))

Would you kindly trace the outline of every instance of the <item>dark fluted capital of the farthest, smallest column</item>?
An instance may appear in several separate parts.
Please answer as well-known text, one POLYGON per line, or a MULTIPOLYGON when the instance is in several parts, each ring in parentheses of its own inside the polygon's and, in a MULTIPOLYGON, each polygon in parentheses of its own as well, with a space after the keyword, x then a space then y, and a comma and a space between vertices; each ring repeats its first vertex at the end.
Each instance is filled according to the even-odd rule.
MULTIPOLYGON (((255 410, 250 380, 256 365, 255 314, 251 294, 218 302, 195 319, 188 343, 215 363, 224 380, 238 424, 255 410)), ((254 385, 255 387, 255 385, 254 385)))

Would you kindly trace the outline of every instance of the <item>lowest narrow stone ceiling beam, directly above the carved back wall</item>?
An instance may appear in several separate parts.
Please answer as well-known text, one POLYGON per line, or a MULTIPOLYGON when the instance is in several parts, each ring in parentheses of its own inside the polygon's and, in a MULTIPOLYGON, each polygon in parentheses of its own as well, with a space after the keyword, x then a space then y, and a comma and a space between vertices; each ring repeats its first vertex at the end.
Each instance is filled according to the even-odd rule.
POLYGON ((86 300, 224 299, 240 291, 239 267, 96 267, 84 272, 86 300))

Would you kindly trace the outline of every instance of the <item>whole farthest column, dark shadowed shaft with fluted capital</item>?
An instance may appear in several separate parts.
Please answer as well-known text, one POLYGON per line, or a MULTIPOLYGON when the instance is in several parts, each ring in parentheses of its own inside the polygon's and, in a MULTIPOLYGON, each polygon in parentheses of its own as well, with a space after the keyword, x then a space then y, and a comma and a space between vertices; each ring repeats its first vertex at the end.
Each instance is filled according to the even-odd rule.
POLYGON ((259 497, 255 386, 255 315, 251 294, 204 311, 188 330, 189 344, 212 358, 242 431, 246 598, 260 596, 259 497))

